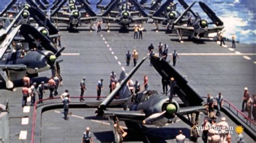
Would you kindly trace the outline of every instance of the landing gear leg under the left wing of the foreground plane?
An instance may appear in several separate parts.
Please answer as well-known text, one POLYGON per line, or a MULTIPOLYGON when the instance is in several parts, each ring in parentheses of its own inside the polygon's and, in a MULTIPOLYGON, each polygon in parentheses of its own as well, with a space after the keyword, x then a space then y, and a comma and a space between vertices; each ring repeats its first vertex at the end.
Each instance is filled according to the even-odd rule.
POLYGON ((123 128, 119 126, 119 119, 117 117, 110 119, 109 117, 109 122, 114 133, 114 142, 122 142, 123 138, 127 135, 127 132, 125 132, 123 128))

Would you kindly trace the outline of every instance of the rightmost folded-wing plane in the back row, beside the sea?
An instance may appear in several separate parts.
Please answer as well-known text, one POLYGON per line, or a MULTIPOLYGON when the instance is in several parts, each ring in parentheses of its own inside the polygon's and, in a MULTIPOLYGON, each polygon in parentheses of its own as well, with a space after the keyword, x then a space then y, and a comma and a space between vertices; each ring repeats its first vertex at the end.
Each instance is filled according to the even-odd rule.
MULTIPOLYGON (((183 0, 181 1, 181 4, 184 8, 188 8, 188 5, 183 0)), ((199 5, 201 9, 204 10, 204 12, 207 14, 207 16, 212 20, 211 23, 207 22, 207 20, 202 19, 198 13, 193 12, 190 9, 190 12, 192 15, 196 18, 194 20, 191 20, 191 24, 189 26, 183 26, 183 25, 177 25, 179 20, 182 18, 181 16, 177 18, 173 24, 172 24, 172 30, 171 32, 177 32, 179 36, 179 41, 183 42, 183 36, 186 36, 188 38, 202 38, 206 37, 208 38, 208 34, 210 33, 218 33, 224 28, 223 22, 216 16, 215 12, 213 12, 205 3, 199 2, 199 5), (210 27, 210 25, 214 25, 210 27)))

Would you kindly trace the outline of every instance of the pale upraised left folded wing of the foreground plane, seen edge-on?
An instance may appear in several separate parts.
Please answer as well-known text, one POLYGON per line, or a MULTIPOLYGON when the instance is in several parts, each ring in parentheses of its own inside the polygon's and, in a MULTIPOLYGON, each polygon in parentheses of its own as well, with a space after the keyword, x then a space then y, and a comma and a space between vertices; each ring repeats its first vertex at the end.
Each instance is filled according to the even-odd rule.
POLYGON ((125 79, 118 85, 117 88, 115 88, 109 96, 106 97, 106 99, 98 106, 97 113, 99 116, 103 114, 103 110, 106 110, 106 107, 113 101, 114 96, 126 85, 126 83, 130 80, 130 78, 133 76, 133 74, 138 70, 138 68, 142 65, 142 63, 146 60, 147 58, 143 58, 142 61, 138 63, 136 67, 134 67, 129 75, 125 77, 125 79))

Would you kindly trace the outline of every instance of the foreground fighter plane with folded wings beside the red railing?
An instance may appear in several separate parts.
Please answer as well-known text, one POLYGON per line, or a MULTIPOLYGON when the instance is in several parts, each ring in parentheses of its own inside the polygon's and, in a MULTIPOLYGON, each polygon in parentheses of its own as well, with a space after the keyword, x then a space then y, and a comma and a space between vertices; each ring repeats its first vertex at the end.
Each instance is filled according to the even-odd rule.
POLYGON ((127 77, 125 77, 124 73, 120 75, 120 80, 123 81, 98 106, 96 111, 97 116, 103 116, 109 119, 116 142, 122 141, 123 136, 126 134, 122 129, 119 129, 119 120, 125 121, 127 128, 134 133, 136 131, 142 131, 142 125, 155 125, 159 127, 165 126, 168 123, 175 123, 177 117, 192 127, 191 140, 196 141, 198 133, 193 127, 198 124, 199 112, 205 111, 205 106, 202 105, 203 99, 187 85, 187 81, 165 60, 161 60, 156 56, 151 58, 154 68, 163 78, 176 78, 176 81, 171 78, 170 96, 159 95, 155 90, 145 90, 138 92, 136 95, 131 95, 129 88, 126 87, 126 83, 145 60, 146 58, 140 61, 130 71, 127 77), (117 94, 119 94, 120 99, 113 101, 117 94), (175 94, 183 101, 183 106, 173 99, 173 95, 175 94), (117 101, 123 101, 123 111, 107 109, 112 102, 117 101), (187 119, 184 117, 184 115, 194 115, 194 113, 196 113, 195 120, 193 116, 191 120, 190 118, 187 119))

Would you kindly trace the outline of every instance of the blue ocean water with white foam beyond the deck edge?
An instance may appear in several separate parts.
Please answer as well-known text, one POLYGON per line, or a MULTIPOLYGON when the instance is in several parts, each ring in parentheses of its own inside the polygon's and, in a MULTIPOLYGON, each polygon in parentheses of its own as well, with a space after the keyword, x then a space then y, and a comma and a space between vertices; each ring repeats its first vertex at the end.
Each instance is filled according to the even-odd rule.
MULTIPOLYGON (((20 0, 24 1, 24 0, 20 0)), ((49 0, 52 3, 54 0, 49 0)), ((103 0, 105 5, 110 0, 103 0)), ((205 2, 224 22, 225 37, 231 38, 232 33, 237 35, 237 40, 241 43, 255 44, 256 43, 256 0, 201 0, 205 2)), ((2 10, 10 0, 0 0, 0 10, 2 10)), ((99 12, 96 8, 98 0, 90 0, 93 10, 99 12)), ((151 0, 148 0, 150 3, 151 0)), ((174 0, 176 2, 176 0, 174 0)), ((186 0, 191 4, 193 0, 186 0)), ((184 11, 180 4, 177 5, 178 10, 184 11)), ((198 12, 201 18, 208 19, 207 15, 201 10, 198 3, 196 3, 192 10, 198 12)))

